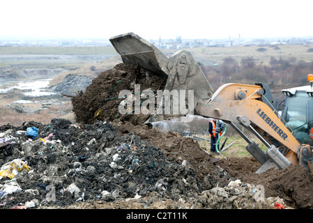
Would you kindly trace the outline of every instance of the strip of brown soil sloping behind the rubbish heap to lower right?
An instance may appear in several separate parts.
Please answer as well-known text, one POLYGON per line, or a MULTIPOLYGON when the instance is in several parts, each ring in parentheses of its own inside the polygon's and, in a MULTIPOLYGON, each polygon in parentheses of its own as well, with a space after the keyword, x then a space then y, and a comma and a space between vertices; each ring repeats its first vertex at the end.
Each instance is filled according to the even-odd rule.
POLYGON ((208 190, 215 185, 226 186, 230 179, 240 179, 252 185, 264 187, 266 197, 280 197, 293 208, 313 208, 313 175, 301 165, 291 165, 287 169, 270 169, 263 174, 255 174, 261 164, 253 157, 225 158, 211 155, 202 149, 197 141, 169 132, 164 134, 142 125, 120 123, 121 132, 135 132, 157 146, 171 160, 187 160, 192 164, 201 189, 208 190), (206 179, 210 176, 210 180, 206 179))

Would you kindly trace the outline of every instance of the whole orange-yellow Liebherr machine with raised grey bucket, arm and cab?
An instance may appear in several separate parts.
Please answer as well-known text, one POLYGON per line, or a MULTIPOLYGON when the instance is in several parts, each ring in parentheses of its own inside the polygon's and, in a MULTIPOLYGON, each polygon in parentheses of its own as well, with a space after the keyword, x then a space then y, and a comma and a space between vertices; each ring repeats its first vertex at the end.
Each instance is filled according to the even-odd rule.
POLYGON ((188 121, 190 115, 217 118, 231 125, 247 141, 247 151, 261 163, 257 174, 273 167, 285 169, 289 164, 302 164, 313 172, 310 146, 313 75, 308 75, 310 86, 282 90, 286 98, 279 112, 266 84, 229 83, 213 92, 190 52, 179 50, 167 58, 157 47, 135 33, 114 36, 110 42, 121 55, 123 63, 140 66, 153 75, 167 79, 162 91, 164 100, 146 123, 178 117, 185 117, 182 121, 188 121), (172 112, 165 112, 166 108, 172 112), (266 145, 267 151, 262 151, 250 140, 238 128, 239 125, 255 134, 266 145))

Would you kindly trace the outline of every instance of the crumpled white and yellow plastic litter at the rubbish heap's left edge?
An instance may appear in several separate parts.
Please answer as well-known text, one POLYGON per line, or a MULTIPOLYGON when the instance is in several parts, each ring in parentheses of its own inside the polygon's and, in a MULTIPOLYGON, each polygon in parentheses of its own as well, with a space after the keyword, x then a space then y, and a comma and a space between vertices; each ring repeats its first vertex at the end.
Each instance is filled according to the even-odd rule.
POLYGON ((26 161, 15 159, 11 162, 8 162, 4 164, 0 169, 0 179, 2 179, 3 177, 13 179, 19 173, 19 171, 22 171, 23 169, 29 171, 29 166, 27 166, 26 161))

